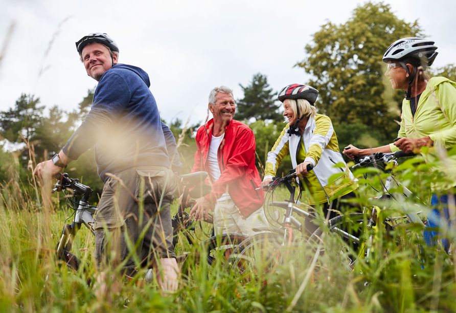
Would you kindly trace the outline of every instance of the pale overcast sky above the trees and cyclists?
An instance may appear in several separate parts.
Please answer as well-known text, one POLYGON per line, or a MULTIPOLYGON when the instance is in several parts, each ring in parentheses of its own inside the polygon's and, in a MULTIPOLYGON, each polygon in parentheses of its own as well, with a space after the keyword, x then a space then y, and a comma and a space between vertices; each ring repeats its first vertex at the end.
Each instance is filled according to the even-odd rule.
MULTIPOLYGON (((119 61, 143 68, 150 77, 162 118, 204 121, 215 86, 243 97, 256 73, 274 91, 309 76, 293 67, 326 21, 345 23, 364 2, 335 1, 26 1, 0 0, 0 110, 13 107, 22 93, 48 108, 77 108, 96 86, 88 77, 75 42, 104 32, 120 47, 119 61), (5 41, 14 24, 11 40, 5 41), (1 50, 0 50, 1 51, 1 50), (41 74, 40 74, 41 73, 41 74)), ((455 0, 392 0, 393 12, 418 19, 439 47, 436 66, 456 63, 455 0)))

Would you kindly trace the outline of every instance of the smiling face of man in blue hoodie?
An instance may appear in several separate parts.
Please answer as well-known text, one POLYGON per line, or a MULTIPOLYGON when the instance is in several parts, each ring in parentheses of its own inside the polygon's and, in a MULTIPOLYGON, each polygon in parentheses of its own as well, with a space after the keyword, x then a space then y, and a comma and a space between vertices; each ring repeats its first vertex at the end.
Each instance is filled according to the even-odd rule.
POLYGON ((82 49, 82 60, 84 61, 85 70, 96 81, 99 81, 101 76, 112 67, 112 61, 117 63, 117 55, 112 55, 112 58, 113 60, 111 59, 109 49, 98 42, 87 44, 82 49))

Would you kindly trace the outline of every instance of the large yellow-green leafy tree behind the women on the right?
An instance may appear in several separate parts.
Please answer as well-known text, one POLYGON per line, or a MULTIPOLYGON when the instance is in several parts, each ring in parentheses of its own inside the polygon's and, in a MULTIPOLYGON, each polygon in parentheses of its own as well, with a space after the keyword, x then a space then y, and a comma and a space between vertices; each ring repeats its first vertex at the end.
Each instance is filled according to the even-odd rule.
POLYGON ((392 42, 409 36, 422 36, 417 22, 406 23, 382 3, 356 8, 345 24, 323 25, 297 64, 314 76, 309 84, 320 91, 320 113, 334 125, 361 123, 394 139, 404 92, 392 91, 384 79, 382 56, 392 42))

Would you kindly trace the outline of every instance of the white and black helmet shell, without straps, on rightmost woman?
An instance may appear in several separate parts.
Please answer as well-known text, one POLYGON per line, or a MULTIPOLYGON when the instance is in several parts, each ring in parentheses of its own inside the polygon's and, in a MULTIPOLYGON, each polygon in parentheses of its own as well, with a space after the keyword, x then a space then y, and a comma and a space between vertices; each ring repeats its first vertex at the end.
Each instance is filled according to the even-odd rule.
POLYGON ((402 61, 407 58, 417 58, 420 60, 420 65, 426 70, 427 66, 432 65, 432 62, 439 54, 436 52, 437 47, 434 46, 434 41, 418 37, 406 37, 396 40, 391 46, 386 49, 383 55, 383 62, 402 61))

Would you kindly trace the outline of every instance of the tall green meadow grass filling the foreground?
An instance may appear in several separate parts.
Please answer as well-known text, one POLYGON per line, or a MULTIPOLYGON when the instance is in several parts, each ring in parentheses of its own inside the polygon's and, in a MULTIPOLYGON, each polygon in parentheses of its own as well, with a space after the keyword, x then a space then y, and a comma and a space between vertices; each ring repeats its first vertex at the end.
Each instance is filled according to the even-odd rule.
MULTIPOLYGON (((427 167, 417 161, 406 161, 400 165, 397 177, 428 203, 429 182, 442 178, 430 176, 427 167)), ((360 180, 359 202, 366 202, 367 197, 379 194, 370 185, 381 190, 384 174, 362 169, 355 175, 360 180), (366 180, 364 173, 368 175, 366 180)), ((73 211, 55 196, 49 196, 50 185, 36 190, 32 182, 21 182, 17 175, 15 177, 7 185, 2 185, 0 201, 0 311, 456 310, 455 254, 447 255, 438 247, 426 247, 414 232, 407 232, 410 229, 416 231, 414 226, 371 233, 376 236, 372 257, 358 259, 350 269, 345 259, 347 255, 340 251, 343 242, 327 232, 321 247, 325 253, 316 254, 316 247, 306 244, 304 240, 296 240, 286 247, 266 241, 252 250, 249 258, 244 259, 245 264, 250 266, 249 271, 239 276, 239 273, 225 266, 224 251, 220 250, 216 252, 216 262, 212 266, 204 258, 189 259, 187 264, 190 264, 190 272, 181 279, 175 293, 164 293, 156 281, 143 287, 125 281, 121 293, 114 295, 112 303, 103 302, 95 296, 96 285, 89 286, 86 279, 86 276, 93 278, 98 273, 93 235, 87 229, 81 229, 78 233, 72 253, 81 260, 81 270, 77 273, 67 270, 65 264, 54 259, 51 250, 65 223, 71 223, 73 211), (24 191, 19 192, 21 185, 24 185, 24 191), (40 192, 40 205, 34 200, 36 192, 40 192), (70 219, 66 220, 68 217, 70 219), (49 251, 45 254, 48 259, 35 254, 29 263, 19 263, 15 256, 31 247, 50 248, 45 250, 49 251), (313 259, 316 260, 314 268, 311 267, 313 259), (271 266, 271 260, 280 262, 271 266), (24 274, 20 281, 16 269, 24 274)), ((288 197, 285 189, 275 194, 275 200, 288 197)), ((412 201, 416 203, 414 199, 412 201)), ((177 211, 176 202, 171 210, 173 213, 177 211)), ((423 214, 426 215, 426 212, 423 214)), ((392 207, 382 211, 380 220, 386 216, 400 215, 402 212, 392 207)), ((381 223, 378 227, 382 227, 381 223)), ((206 239, 209 232, 209 225, 203 226, 202 230, 197 229, 196 242, 206 239)), ((448 232, 448 236, 451 235, 448 232)), ((197 244, 192 247, 182 234, 179 236, 177 255, 184 252, 196 252, 191 253, 189 258, 203 255, 201 247, 197 244)), ((299 234, 297 238, 300 238, 299 234)), ((245 264, 242 266, 247 268, 245 264)), ((109 274, 119 276, 116 269, 109 274)))

